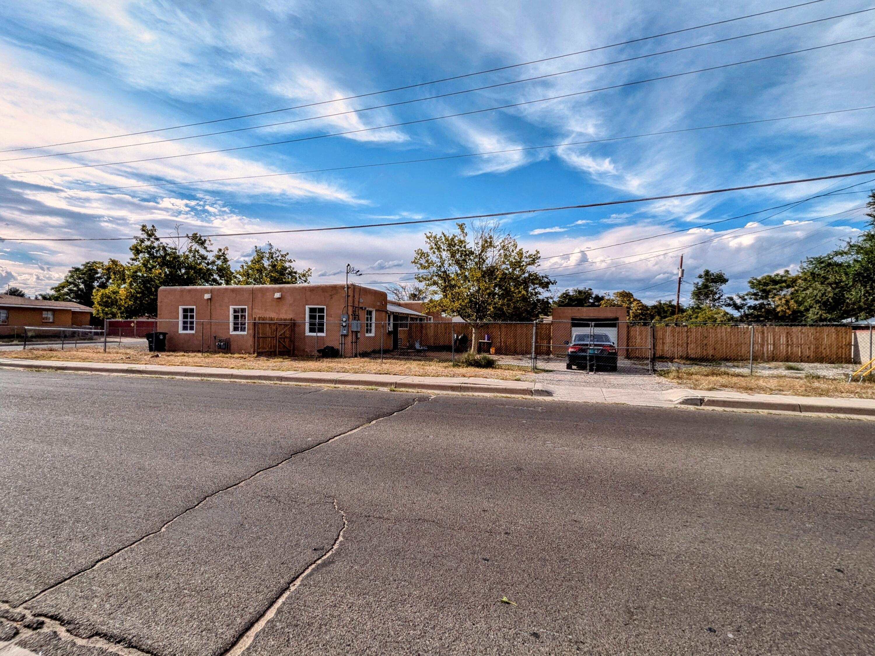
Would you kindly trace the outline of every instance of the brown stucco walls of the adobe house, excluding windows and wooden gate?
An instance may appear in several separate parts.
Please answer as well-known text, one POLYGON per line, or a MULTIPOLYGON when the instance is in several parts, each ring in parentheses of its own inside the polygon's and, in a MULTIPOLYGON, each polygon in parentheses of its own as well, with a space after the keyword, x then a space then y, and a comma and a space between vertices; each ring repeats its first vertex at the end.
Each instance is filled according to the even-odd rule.
MULTIPOLYGON (((378 351, 381 330, 385 326, 376 325, 373 337, 365 335, 365 308, 374 310, 374 321, 386 321, 386 293, 351 284, 349 293, 349 314, 359 308, 362 329, 358 338, 350 331, 346 338, 346 353, 356 350, 378 351)), ((339 348, 340 315, 345 305, 342 284, 325 285, 246 285, 228 287, 162 287, 158 290, 158 330, 167 335, 167 348, 170 351, 214 351, 215 342, 220 338, 230 338, 231 352, 253 352, 255 347, 255 326, 248 325, 247 334, 231 334, 231 306, 247 307, 248 320, 269 317, 292 319, 295 321, 295 354, 311 355, 325 345, 339 348), (280 293, 282 297, 275 298, 280 293), (205 299, 209 294, 211 298, 205 299), (325 306, 325 336, 317 338, 306 332, 306 306, 325 306), (179 307, 194 306, 195 332, 179 333, 179 307), (207 320, 207 321, 204 321, 207 320)), ((390 336, 383 335, 383 344, 391 344, 390 336)))

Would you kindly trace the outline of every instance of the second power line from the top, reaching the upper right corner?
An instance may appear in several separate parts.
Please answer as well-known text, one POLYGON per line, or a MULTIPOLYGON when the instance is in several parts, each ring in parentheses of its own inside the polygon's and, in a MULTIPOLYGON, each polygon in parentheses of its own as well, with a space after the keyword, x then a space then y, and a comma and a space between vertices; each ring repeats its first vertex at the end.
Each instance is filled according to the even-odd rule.
MULTIPOLYGON (((245 128, 225 129, 225 130, 219 130, 216 132, 206 132, 206 133, 202 133, 200 135, 177 136, 177 137, 168 138, 168 139, 157 139, 155 141, 148 141, 148 142, 141 142, 141 143, 123 143, 123 144, 116 145, 116 146, 105 146, 103 148, 92 148, 92 149, 86 149, 86 150, 68 150, 66 152, 45 153, 42 155, 31 155, 28 157, 9 157, 6 159, 0 159, 0 162, 18 162, 18 161, 23 161, 25 159, 39 159, 42 157, 65 157, 67 155, 81 155, 83 153, 102 152, 104 150, 117 150, 120 148, 136 148, 137 146, 149 146, 149 145, 154 145, 156 143, 172 143, 172 142, 178 142, 178 141, 186 141, 188 139, 199 139, 199 138, 204 137, 204 136, 228 135, 228 134, 232 134, 232 133, 236 133, 236 132, 246 132, 248 130, 253 130, 253 129, 274 128, 278 125, 290 125, 292 123, 315 121, 315 120, 322 119, 322 118, 335 118, 337 116, 358 114, 360 112, 366 112, 366 111, 370 111, 370 110, 374 110, 374 109, 400 107, 402 105, 409 105, 409 104, 413 104, 415 102, 437 100, 439 98, 448 98, 448 97, 451 97, 454 95, 471 94, 471 93, 476 92, 476 91, 486 91, 487 89, 493 89, 493 88, 498 88, 498 87, 507 87, 507 86, 514 85, 514 84, 521 84, 522 82, 531 82, 531 81, 535 81, 535 80, 546 80, 548 78, 556 77, 558 75, 567 75, 569 73, 580 73, 581 71, 589 71, 589 70, 592 70, 595 68, 602 68, 605 66, 613 66, 615 64, 625 64, 625 63, 628 63, 630 61, 636 61, 638 59, 648 59, 650 57, 658 57, 658 56, 661 56, 664 54, 670 54, 673 52, 683 52, 686 50, 692 50, 694 48, 701 48, 701 47, 704 47, 705 45, 716 45, 716 44, 720 44, 720 43, 726 43, 729 41, 735 41, 735 40, 738 40, 739 38, 756 37, 756 36, 760 36, 762 34, 769 34, 769 33, 774 32, 774 31, 789 30, 791 28, 802 27, 804 25, 823 23, 824 21, 854 16, 856 14, 862 14, 862 13, 865 13, 867 11, 873 11, 873 10, 875 10, 875 7, 871 7, 869 9, 858 10, 858 11, 851 11, 848 13, 839 14, 837 16, 816 18, 815 20, 805 21, 804 23, 783 25, 781 27, 774 27, 774 28, 769 29, 769 30, 755 31, 755 32, 751 32, 748 34, 740 34, 739 36, 735 36, 735 37, 719 38, 719 39, 716 39, 714 41, 705 41, 704 43, 700 43, 700 44, 683 45, 681 47, 671 48, 669 50, 663 50, 661 52, 649 52, 648 54, 637 55, 635 57, 628 57, 627 59, 616 59, 614 61, 607 61, 607 62, 603 62, 601 64, 593 64, 591 66, 581 66, 579 68, 572 68, 572 69, 567 70, 567 71, 558 71, 556 73, 544 73, 542 75, 535 75, 535 76, 529 77, 529 78, 522 78, 521 80, 509 80, 507 82, 498 82, 496 84, 490 84, 490 85, 486 85, 484 87, 473 87, 470 89, 462 89, 460 91, 451 91, 451 92, 447 92, 444 94, 429 95, 429 96, 425 96, 423 98, 413 98, 413 99, 410 99, 407 101, 388 102, 388 103, 385 103, 382 105, 374 105, 373 107, 349 109, 349 110, 342 111, 342 112, 335 112, 334 114, 323 114, 323 115, 318 115, 318 116, 305 116, 304 118, 292 119, 290 121, 264 123, 262 125, 250 125, 250 126, 247 126, 245 128)), ((2 151, 0 151, 0 152, 2 152, 2 151)))

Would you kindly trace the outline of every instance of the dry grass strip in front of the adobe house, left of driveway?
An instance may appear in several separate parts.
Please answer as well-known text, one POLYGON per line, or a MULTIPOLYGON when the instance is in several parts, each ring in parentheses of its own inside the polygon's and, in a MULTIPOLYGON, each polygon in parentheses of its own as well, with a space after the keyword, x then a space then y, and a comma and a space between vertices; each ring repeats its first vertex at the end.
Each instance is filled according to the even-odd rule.
POLYGON ((322 371, 338 373, 391 373, 402 376, 445 376, 452 378, 493 378, 527 380, 530 370, 524 366, 496 365, 494 369, 452 366, 437 360, 367 358, 256 358, 251 354, 167 352, 153 353, 135 349, 80 348, 76 350, 45 348, 0 351, 0 358, 66 360, 67 362, 117 362, 127 365, 218 366, 228 369, 270 369, 276 371, 322 371))

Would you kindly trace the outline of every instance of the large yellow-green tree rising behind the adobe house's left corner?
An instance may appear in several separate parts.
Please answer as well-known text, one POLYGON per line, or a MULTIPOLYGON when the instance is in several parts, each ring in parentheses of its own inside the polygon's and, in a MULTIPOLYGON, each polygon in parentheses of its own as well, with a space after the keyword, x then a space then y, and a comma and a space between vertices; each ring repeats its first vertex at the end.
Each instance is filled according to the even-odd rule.
POLYGON ((95 317, 154 317, 159 287, 230 284, 228 248, 214 252, 210 246, 197 233, 164 241, 155 226, 141 226, 140 236, 130 246, 129 262, 108 263, 109 286, 93 295, 95 317))

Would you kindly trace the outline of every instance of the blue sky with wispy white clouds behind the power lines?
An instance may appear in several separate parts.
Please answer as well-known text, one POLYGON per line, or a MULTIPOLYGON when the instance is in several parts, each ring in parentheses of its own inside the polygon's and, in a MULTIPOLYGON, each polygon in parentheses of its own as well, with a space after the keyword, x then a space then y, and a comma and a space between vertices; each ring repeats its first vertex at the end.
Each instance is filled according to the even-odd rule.
MULTIPOLYGON (((86 2, 0 5, 0 150, 208 121, 575 52, 792 4, 552 2, 86 2)), ((360 110, 386 102, 605 64, 867 9, 848 0, 779 11, 598 52, 464 80, 235 122, 170 130, 0 159, 126 145, 268 122, 360 110)), ((120 236, 141 223, 163 234, 240 232, 439 218, 561 206, 807 178, 871 169, 875 110, 645 136, 607 143, 421 164, 115 192, 97 186, 253 176, 282 171, 443 157, 685 129, 875 105, 875 39, 743 66, 580 94, 441 121, 348 136, 161 161, 37 171, 181 155, 532 101, 875 35, 875 11, 724 44, 600 66, 395 108, 172 143, 0 162, 0 236, 120 236), (25 192, 52 192, 14 196, 25 192)), ((802 200, 854 178, 507 218, 521 243, 557 275, 556 290, 641 290, 671 297, 677 258, 688 279, 723 269, 730 290, 750 276, 795 268, 865 227, 865 193, 843 193, 774 212, 695 227, 802 200), (827 217, 827 218, 823 218, 827 217), (774 227, 767 230, 766 228, 774 227), (602 248, 680 231, 645 241, 602 248), (717 241, 696 245, 699 241, 717 241), (677 249, 677 250, 675 250, 677 249), (587 252, 589 251, 589 252, 587 252), (648 258, 648 259, 644 259, 648 258), (577 266, 571 266, 577 265, 577 266)), ((847 190, 869 190, 861 185, 847 190)), ((384 227, 340 233, 214 240, 240 258, 268 239, 289 250, 314 282, 410 276, 426 230, 384 227), (376 273, 392 274, 376 276, 376 273)), ((127 255, 125 242, 0 243, 0 284, 45 291, 70 266, 127 255)), ((685 287, 689 293, 690 286, 685 287)))

